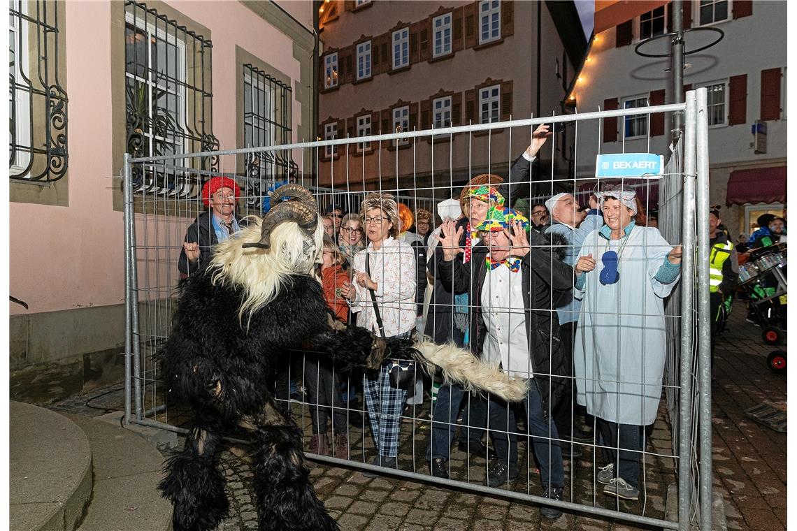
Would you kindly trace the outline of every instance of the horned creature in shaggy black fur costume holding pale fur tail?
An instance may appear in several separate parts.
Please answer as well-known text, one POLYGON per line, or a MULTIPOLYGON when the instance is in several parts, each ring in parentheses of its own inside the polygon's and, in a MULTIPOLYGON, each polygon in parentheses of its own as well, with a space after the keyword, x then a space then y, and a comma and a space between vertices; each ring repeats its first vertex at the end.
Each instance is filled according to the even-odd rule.
POLYGON ((451 380, 473 382, 471 388, 508 400, 524 394, 522 383, 456 347, 383 340, 337 322, 311 275, 323 236, 312 196, 300 186, 285 185, 272 201, 277 206, 261 224, 219 244, 210 267, 184 281, 161 352, 170 398, 190 404, 194 412, 185 447, 168 459, 160 483, 175 506, 175 531, 214 529, 226 517, 218 450, 222 434, 234 428, 253 439, 261 531, 338 529, 309 482, 300 429, 269 392, 277 361, 289 349, 320 353, 341 371, 376 369, 384 357, 426 365, 431 360, 451 380), (299 201, 280 202, 285 197, 299 201))

